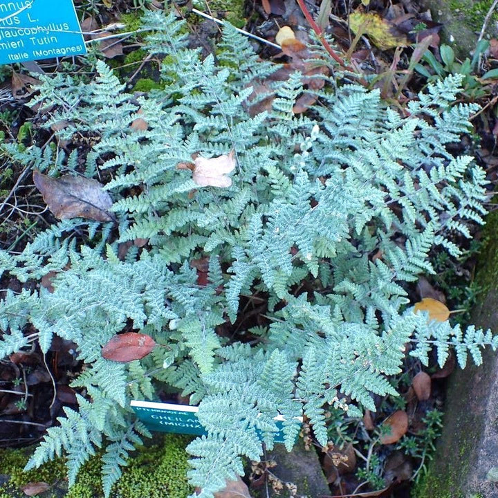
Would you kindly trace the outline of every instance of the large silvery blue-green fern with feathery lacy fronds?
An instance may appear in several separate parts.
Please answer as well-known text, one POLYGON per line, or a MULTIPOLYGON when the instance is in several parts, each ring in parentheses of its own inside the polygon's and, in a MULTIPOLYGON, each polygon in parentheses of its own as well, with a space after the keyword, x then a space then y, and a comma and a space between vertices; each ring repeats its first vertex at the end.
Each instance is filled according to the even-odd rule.
POLYGON ((436 349, 440 365, 454 347, 462 366, 468 353, 479 363, 483 347, 498 346, 489 331, 414 314, 403 286, 432 273, 434 246, 458 255, 452 234, 469 237, 468 221, 482 223, 486 213, 483 170, 447 149, 476 110, 454 104, 459 75, 430 86, 404 116, 378 91, 333 91, 322 76, 325 90, 299 117, 299 73, 264 86, 275 66, 230 26, 215 63, 186 48, 174 17, 155 12, 145 24, 151 53, 165 55, 163 91, 130 95, 103 63, 87 85, 44 77, 37 100, 51 107, 47 125, 64 120, 62 135, 98 140, 86 156, 56 161, 6 147, 51 174, 84 165, 87 176, 110 175, 105 188, 119 220, 118 230, 63 221, 21 255, 0 252, 2 272, 22 282, 57 273, 53 293, 9 293, 1 302, 0 357, 27 346, 22 331, 31 323, 42 351, 58 335, 74 341, 86 363, 72 385, 88 396, 48 430, 28 468, 65 452, 73 483, 105 445, 109 495, 119 466, 147 435, 133 422, 130 398, 153 399, 167 384, 200 403, 209 435, 188 448, 190 479, 211 497, 243 473, 242 456, 261 457, 257 431, 272 448, 275 415, 286 418, 291 450, 297 416, 306 414, 325 444, 325 408, 361 416, 375 410, 372 394, 395 395, 389 378, 400 372, 405 344, 424 364, 436 349), (258 112, 268 93, 277 95, 273 109, 258 112), (137 118, 146 130, 131 127, 137 118), (228 188, 199 187, 176 167, 192 154, 231 149, 237 167, 228 188), (148 239, 147 248, 118 258, 120 244, 136 238, 148 239), (369 259, 378 249, 382 257, 369 259), (199 285, 190 262, 206 256, 208 284, 199 285), (240 317, 241 297, 250 303, 253 295, 266 299, 268 325, 243 331, 242 322, 242 342, 219 333, 240 317), (167 347, 128 365, 104 360, 102 345, 130 323, 167 347))

